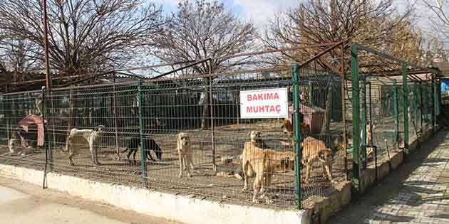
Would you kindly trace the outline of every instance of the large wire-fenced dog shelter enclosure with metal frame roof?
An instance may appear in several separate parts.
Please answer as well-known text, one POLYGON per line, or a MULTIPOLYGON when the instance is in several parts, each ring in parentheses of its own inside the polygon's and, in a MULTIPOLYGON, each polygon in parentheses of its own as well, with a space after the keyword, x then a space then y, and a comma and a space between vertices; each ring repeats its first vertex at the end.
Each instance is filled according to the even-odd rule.
MULTIPOLYGON (((413 142, 422 142, 435 131, 438 71, 358 44, 351 46, 351 54, 349 50, 344 52, 344 43, 300 46, 296 50, 300 48, 316 50, 316 56, 291 65, 249 63, 226 72, 186 72, 4 93, 0 95, 0 162, 209 200, 313 208, 316 201, 330 196, 342 183, 353 181, 356 189, 366 188, 360 181, 364 171, 375 170, 377 178, 378 166, 388 163, 395 154, 409 153, 413 142), (240 117, 241 91, 279 88, 287 90, 287 118, 294 124, 293 137, 284 132, 284 118, 240 117), (30 114, 45 120, 44 146, 25 156, 7 154, 7 142, 20 129, 19 121, 30 114), (98 142, 100 165, 92 163, 88 144, 83 143, 71 166, 66 151, 70 130, 100 125, 104 126, 98 142), (250 191, 242 191, 244 175, 239 159, 253 130, 262 132, 269 149, 296 154, 294 171, 273 171, 272 184, 265 186, 265 197, 258 203, 251 200, 252 186, 250 191), (191 177, 178 177, 179 132, 190 136, 194 164, 191 177), (302 161, 307 158, 301 142, 306 137, 324 142, 331 151, 331 180, 325 175, 323 162, 314 159, 305 181, 302 161), (143 145, 139 148, 144 149, 135 156, 138 165, 129 163, 130 150, 125 151, 132 139, 138 139, 143 145), (161 160, 155 158, 150 146, 145 146, 145 139, 153 139, 160 146, 161 160), (147 151, 155 161, 146 159, 147 151)), ((236 58, 249 60, 269 53, 229 56, 229 61, 237 63, 236 58)), ((207 65, 210 60, 201 63, 207 65)), ((184 71, 193 66, 186 66, 184 71)), ((36 129, 29 127, 27 142, 37 141, 33 134, 36 129)))

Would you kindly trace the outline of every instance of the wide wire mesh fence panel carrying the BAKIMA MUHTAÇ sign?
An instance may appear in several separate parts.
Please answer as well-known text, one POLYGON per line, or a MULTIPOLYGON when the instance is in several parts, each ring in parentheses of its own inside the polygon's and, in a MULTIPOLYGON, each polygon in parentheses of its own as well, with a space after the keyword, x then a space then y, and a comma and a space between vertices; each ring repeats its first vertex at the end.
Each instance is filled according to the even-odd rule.
MULTIPOLYGON (((252 203, 253 191, 242 193, 242 178, 252 178, 252 175, 246 177, 244 174, 247 170, 255 176, 264 175, 263 183, 257 177, 253 180, 260 182, 264 191, 263 198, 257 196, 256 201, 272 206, 294 206, 294 173, 276 165, 281 162, 276 156, 284 153, 290 154, 287 159, 294 159, 290 138, 282 129, 284 120, 242 118, 239 102, 240 91, 288 88, 291 86, 290 74, 288 69, 265 70, 264 75, 237 73, 145 84, 144 133, 162 151, 162 159, 147 168, 149 186, 217 200, 252 203), (252 151, 264 149, 269 153, 248 154, 252 158, 251 164, 242 170, 245 142, 251 142, 252 137, 254 141, 263 142, 254 144, 252 151), (182 144, 185 141, 187 146, 182 144), (192 159, 192 167, 189 167, 188 159, 183 161, 187 167, 181 166, 180 151, 192 159), (264 160, 261 156, 268 158, 264 160), (262 161, 274 165, 252 164, 262 161)), ((266 107, 253 109, 269 110, 266 107)), ((147 150, 154 153, 153 149, 147 150)), ((250 189, 252 185, 248 186, 250 189)))

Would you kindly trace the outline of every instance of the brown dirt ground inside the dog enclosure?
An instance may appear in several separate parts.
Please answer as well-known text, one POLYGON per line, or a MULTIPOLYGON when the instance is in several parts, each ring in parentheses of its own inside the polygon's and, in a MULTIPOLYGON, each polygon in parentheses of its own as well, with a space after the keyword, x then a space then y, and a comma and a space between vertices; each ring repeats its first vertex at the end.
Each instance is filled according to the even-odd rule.
MULTIPOLYGON (((247 134, 251 129, 263 130, 264 139, 270 148, 278 151, 291 150, 289 146, 284 146, 281 142, 289 142, 289 138, 279 127, 280 123, 256 123, 256 124, 235 124, 217 127, 215 132, 215 160, 217 171, 239 174, 240 166, 235 164, 222 164, 222 157, 234 158, 234 161, 241 154, 244 142, 249 141, 247 134)), ((250 204, 252 192, 242 192, 244 181, 231 177, 218 177, 212 165, 212 147, 210 131, 190 130, 187 131, 192 137, 194 149, 193 163, 195 171, 192 177, 178 178, 179 162, 177 159, 175 134, 154 135, 153 139, 160 145, 163 154, 161 161, 148 161, 145 183, 141 176, 140 166, 132 166, 126 160, 126 154, 120 154, 121 159, 116 160, 115 149, 110 145, 115 145, 115 139, 103 138, 100 146, 99 161, 100 166, 93 166, 88 149, 81 150, 81 154, 74 157, 75 166, 68 164, 68 154, 61 152, 61 148, 53 148, 53 161, 48 164, 48 169, 52 169, 61 174, 71 176, 81 176, 110 183, 121 183, 133 186, 146 186, 157 189, 157 191, 167 191, 170 193, 182 193, 193 195, 199 198, 208 198, 216 201, 232 201, 233 203, 250 204)), ((59 144, 60 146, 63 144, 59 144)), ((125 145, 125 144, 119 144, 125 145)), ((115 146, 114 146, 115 148, 115 146)), ((125 147, 120 146, 123 151, 125 147)), ((0 154, 4 154, 8 149, 0 148, 0 154)), ((155 158, 154 154, 153 157, 155 158)), ((140 159, 140 151, 136 155, 140 159)), ((348 158, 351 161, 351 158, 348 158)), ((238 160, 238 159, 237 159, 238 160)), ((45 152, 36 151, 28 156, 2 156, 2 164, 14 164, 26 166, 33 169, 43 169, 45 166, 45 152)), ((349 162, 349 169, 352 163, 349 162)), ((303 173, 305 170, 303 169, 303 173)), ((332 175, 335 180, 345 178, 344 151, 339 151, 334 156, 332 164, 332 175)), ((303 206, 313 205, 315 197, 324 197, 334 191, 333 183, 322 176, 323 171, 319 163, 314 164, 308 184, 301 184, 301 195, 303 206)), ((302 174, 304 176, 304 174, 302 174)), ((272 188, 269 188, 267 195, 274 203, 264 204, 276 208, 293 208, 294 200, 294 172, 274 174, 272 188)))

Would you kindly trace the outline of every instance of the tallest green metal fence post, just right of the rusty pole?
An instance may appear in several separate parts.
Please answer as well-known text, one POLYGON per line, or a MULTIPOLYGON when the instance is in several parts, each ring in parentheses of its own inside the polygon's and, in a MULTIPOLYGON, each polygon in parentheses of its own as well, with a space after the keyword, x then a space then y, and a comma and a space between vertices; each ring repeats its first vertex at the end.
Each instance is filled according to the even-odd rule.
POLYGON ((351 46, 352 123, 353 123, 353 187, 360 190, 360 99, 357 45, 351 46))

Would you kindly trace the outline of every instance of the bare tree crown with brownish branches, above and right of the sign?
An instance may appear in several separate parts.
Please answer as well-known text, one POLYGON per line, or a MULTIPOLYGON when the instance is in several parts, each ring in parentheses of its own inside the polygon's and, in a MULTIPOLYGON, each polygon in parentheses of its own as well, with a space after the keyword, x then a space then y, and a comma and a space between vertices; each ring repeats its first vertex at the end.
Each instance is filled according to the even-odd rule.
MULTIPOLYGON (((347 41, 347 49, 358 42, 416 60, 420 53, 420 32, 411 23, 412 9, 399 14, 392 0, 309 0, 271 21, 264 43, 268 48, 284 48, 347 41)), ((287 58, 306 60, 319 50, 323 48, 284 54, 275 58, 274 63, 285 63, 287 58)), ((330 55, 327 60, 335 58, 336 51, 330 55)))

